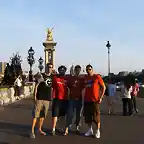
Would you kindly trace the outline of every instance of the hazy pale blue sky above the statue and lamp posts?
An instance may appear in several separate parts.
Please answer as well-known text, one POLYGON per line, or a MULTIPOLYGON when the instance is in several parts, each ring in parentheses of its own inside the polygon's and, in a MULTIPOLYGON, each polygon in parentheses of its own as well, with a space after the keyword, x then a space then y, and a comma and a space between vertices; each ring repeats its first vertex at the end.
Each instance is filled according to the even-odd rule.
POLYGON ((23 69, 28 70, 29 47, 37 62, 44 56, 46 29, 54 26, 57 66, 91 63, 106 74, 109 40, 112 72, 141 70, 143 6, 144 0, 0 0, 0 61, 19 52, 23 69))

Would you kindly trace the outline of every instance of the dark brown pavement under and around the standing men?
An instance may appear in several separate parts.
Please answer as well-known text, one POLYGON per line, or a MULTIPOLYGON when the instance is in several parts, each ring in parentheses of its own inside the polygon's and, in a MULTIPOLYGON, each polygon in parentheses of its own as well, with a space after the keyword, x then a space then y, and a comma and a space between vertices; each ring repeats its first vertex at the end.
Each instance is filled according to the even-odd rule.
MULTIPOLYGON (((102 128, 101 138, 86 138, 71 133, 68 136, 40 136, 36 139, 28 138, 31 126, 32 100, 24 99, 9 106, 0 107, 0 144, 40 144, 40 143, 131 143, 143 144, 144 142, 144 99, 138 99, 140 114, 123 117, 121 116, 121 102, 116 102, 116 116, 108 116, 106 102, 102 104, 102 128)), ((45 121, 44 127, 51 128, 51 112, 45 121)), ((86 132, 87 126, 83 124, 82 133, 86 132)))

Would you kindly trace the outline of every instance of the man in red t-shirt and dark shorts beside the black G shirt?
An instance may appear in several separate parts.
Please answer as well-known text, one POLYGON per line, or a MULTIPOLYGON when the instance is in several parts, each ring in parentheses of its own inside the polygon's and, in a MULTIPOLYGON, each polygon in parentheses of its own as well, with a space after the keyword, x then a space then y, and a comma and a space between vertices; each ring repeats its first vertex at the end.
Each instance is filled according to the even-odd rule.
POLYGON ((53 102, 52 102, 52 135, 55 135, 55 128, 58 117, 65 117, 68 110, 68 96, 69 89, 67 84, 67 77, 65 76, 67 68, 60 66, 58 68, 58 75, 53 77, 53 102))

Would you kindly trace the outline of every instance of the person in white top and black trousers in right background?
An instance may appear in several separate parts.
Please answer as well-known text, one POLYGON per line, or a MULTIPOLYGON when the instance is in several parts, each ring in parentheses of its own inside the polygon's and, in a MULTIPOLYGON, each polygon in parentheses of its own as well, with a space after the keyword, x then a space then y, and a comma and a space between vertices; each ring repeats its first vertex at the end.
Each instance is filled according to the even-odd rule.
POLYGON ((131 116, 132 111, 132 99, 131 99, 132 86, 125 83, 122 88, 122 102, 123 102, 123 116, 131 116))

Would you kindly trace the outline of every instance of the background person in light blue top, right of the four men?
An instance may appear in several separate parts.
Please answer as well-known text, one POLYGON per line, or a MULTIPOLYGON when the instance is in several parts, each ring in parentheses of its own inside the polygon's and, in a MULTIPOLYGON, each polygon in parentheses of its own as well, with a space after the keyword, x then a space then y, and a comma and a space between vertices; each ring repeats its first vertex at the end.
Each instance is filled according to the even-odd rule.
POLYGON ((114 110, 115 96, 116 96, 116 84, 113 81, 109 81, 108 96, 107 96, 108 114, 115 114, 114 110))

